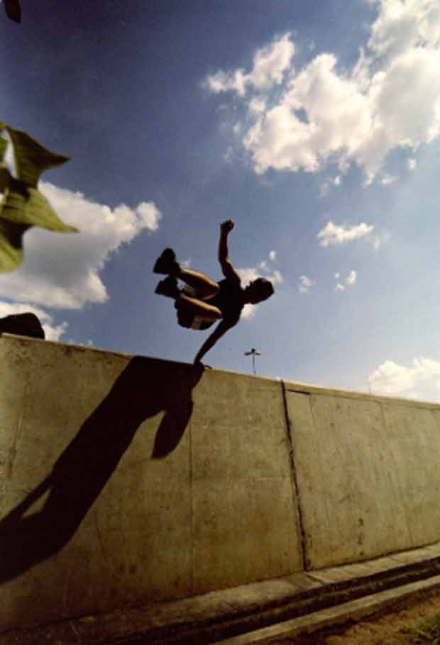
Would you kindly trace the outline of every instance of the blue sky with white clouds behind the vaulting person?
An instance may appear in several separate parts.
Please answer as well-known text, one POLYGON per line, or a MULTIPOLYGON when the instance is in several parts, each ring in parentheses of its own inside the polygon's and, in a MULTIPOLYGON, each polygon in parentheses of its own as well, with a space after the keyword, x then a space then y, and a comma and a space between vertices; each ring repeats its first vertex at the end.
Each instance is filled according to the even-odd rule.
POLYGON ((191 362, 151 268, 172 246, 273 298, 216 368, 440 399, 440 7, 435 0, 22 0, 0 13, 0 118, 70 155, 40 189, 0 315, 48 338, 191 362), (270 7, 270 11, 268 10, 270 7))

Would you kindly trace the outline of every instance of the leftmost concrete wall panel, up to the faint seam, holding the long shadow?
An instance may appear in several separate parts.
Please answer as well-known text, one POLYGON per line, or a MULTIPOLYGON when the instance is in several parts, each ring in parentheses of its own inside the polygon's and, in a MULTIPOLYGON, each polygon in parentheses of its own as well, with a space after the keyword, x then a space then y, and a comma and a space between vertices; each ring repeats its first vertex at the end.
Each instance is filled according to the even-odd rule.
POLYGON ((6 336, 0 348, 0 629, 191 595, 187 367, 6 336))

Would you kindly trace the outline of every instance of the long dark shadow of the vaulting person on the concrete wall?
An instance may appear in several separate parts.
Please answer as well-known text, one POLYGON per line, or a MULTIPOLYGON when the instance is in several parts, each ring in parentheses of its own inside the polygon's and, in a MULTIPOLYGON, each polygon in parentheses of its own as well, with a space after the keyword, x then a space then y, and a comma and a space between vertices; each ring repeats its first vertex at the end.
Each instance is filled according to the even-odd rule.
POLYGON ((170 369, 165 361, 138 356, 128 363, 48 477, 0 520, 0 583, 50 558, 70 541, 145 419, 165 410, 151 458, 164 458, 176 448, 192 414, 192 388, 202 372, 202 367, 177 363, 170 369), (43 508, 24 517, 48 491, 43 508))

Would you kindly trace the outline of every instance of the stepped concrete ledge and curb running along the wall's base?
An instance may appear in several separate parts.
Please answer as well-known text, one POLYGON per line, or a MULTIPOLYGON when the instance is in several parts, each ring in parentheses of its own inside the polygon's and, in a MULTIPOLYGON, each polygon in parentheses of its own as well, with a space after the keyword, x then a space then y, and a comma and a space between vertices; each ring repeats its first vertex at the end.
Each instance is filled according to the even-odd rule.
POLYGON ((321 629, 323 617, 331 617, 329 624, 343 624, 360 618, 359 610, 390 609, 421 593, 426 597, 429 590, 438 593, 440 543, 407 552, 403 559, 387 556, 17 629, 0 634, 0 645, 232 645, 265 642, 270 634, 279 644, 280 637, 321 629))

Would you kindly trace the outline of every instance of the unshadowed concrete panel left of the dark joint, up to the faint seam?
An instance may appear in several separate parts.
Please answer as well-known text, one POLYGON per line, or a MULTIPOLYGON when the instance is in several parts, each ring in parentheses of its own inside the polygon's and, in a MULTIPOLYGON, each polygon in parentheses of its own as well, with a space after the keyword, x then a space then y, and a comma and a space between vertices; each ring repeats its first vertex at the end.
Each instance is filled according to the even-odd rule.
POLYGON ((281 384, 209 371, 191 429, 194 592, 300 570, 281 384))

